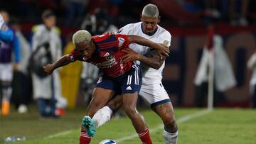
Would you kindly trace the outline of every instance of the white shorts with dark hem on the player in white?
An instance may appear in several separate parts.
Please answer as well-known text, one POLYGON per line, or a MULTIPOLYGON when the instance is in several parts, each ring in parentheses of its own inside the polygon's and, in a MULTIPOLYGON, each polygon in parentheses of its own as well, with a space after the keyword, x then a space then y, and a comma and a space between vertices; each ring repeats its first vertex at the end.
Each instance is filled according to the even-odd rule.
POLYGON ((150 85, 142 84, 139 95, 150 104, 151 109, 154 109, 155 106, 160 104, 171 102, 171 99, 161 82, 150 85))

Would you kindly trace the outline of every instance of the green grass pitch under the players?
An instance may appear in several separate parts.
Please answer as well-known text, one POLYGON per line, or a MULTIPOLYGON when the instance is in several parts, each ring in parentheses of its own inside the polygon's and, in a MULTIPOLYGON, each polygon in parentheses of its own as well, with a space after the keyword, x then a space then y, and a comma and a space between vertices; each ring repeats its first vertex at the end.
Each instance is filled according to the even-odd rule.
MULTIPOLYGON (((0 116, 0 143, 4 138, 26 136, 21 144, 73 144, 79 143, 80 123, 85 109, 67 111, 58 119, 38 116, 36 109, 9 116, 0 116)), ((150 128, 155 144, 164 143, 161 119, 151 110, 140 110, 150 128)), ((178 122, 178 144, 255 144, 256 111, 252 109, 175 109, 178 122)), ((129 118, 112 119, 97 129, 92 144, 104 139, 120 144, 140 144, 129 118), (135 135, 135 136, 134 136, 135 135)))

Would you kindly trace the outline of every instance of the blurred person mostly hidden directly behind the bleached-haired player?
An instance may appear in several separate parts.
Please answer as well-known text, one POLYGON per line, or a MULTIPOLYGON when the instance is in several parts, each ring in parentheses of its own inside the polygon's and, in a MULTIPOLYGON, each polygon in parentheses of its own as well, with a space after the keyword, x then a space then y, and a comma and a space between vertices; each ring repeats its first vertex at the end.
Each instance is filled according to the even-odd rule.
MULTIPOLYGON (((117 32, 117 26, 114 26, 109 21, 110 17, 107 15, 105 9, 96 9, 95 13, 87 14, 82 21, 81 29, 89 31, 92 35, 102 35, 105 32, 117 32)), ((81 74, 81 90, 84 94, 84 99, 89 104, 92 90, 95 88, 99 69, 88 62, 82 62, 81 74)))

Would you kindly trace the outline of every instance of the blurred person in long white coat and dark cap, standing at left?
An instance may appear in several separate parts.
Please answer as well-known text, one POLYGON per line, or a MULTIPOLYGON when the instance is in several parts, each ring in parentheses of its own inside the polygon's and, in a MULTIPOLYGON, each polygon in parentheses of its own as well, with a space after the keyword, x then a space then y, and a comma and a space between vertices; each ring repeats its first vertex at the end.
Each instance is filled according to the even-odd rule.
POLYGON ((30 60, 33 97, 38 102, 41 116, 55 117, 60 112, 64 112, 66 100, 61 94, 58 70, 53 72, 52 75, 48 75, 43 72, 43 66, 61 57, 62 45, 60 30, 55 27, 56 17, 53 11, 43 11, 42 19, 43 24, 33 26, 33 53, 30 60))

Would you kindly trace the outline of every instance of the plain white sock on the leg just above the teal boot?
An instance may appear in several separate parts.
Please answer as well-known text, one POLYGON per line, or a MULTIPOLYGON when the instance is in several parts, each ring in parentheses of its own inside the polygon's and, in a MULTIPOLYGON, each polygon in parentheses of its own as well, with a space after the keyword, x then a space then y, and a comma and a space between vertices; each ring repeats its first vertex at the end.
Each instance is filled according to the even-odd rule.
POLYGON ((113 111, 110 109, 109 106, 104 106, 102 109, 97 111, 92 117, 92 120, 95 121, 97 128, 102 126, 102 124, 110 121, 112 113, 113 111))

